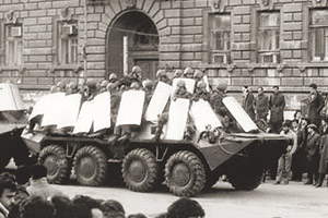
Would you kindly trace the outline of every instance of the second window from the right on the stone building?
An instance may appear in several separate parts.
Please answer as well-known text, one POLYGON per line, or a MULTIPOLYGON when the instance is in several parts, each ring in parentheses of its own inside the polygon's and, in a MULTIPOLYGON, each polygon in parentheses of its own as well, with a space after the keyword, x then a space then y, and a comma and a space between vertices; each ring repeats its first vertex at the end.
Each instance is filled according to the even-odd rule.
POLYGON ((261 12, 258 27, 258 62, 280 62, 280 13, 261 12))

